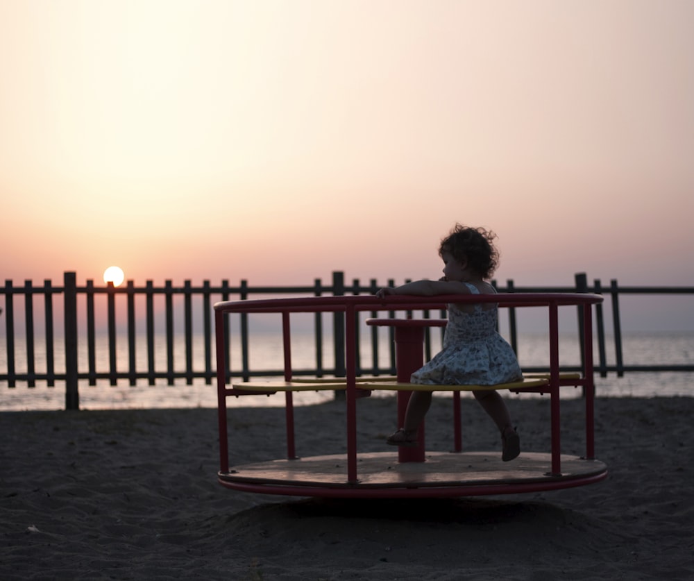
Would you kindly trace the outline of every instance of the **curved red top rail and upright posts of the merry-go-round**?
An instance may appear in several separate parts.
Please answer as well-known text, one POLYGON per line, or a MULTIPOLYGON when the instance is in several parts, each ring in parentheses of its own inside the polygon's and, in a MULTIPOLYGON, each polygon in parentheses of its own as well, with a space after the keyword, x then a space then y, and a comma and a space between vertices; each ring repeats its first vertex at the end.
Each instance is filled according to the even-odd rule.
MULTIPOLYGON (((445 308, 447 303, 497 303, 500 307, 544 307, 548 309, 548 331, 550 373, 548 387, 544 391, 552 394, 552 473, 559 473, 559 396, 560 353, 559 353, 559 308, 565 306, 582 308, 582 373, 581 377, 572 380, 571 385, 582 385, 586 396, 586 457, 593 458, 593 323, 592 305, 602 301, 597 294, 579 293, 512 293, 482 295, 439 295, 439 296, 394 296, 384 298, 376 296, 325 296, 301 298, 271 298, 253 301, 223 301, 214 305, 217 335, 217 390, 219 403, 219 436, 220 436, 220 471, 229 470, 228 434, 226 425, 226 398, 238 395, 238 390, 228 387, 230 376, 228 370, 228 344, 224 332, 224 317, 230 313, 277 313, 282 317, 283 344, 285 346, 285 380, 290 381, 291 373, 291 333, 290 315, 303 312, 344 312, 345 314, 345 347, 346 347, 346 417, 347 417, 347 479, 353 489, 357 485, 357 448, 356 448, 356 400, 357 377, 355 352, 357 349, 356 315, 359 312, 400 312, 410 310, 430 310, 445 308)), ((565 384, 567 385, 567 384, 565 384)), ((523 390, 521 390, 523 391, 523 390)), ((287 391, 288 439, 293 439, 293 415, 291 415, 291 389, 287 391)), ((289 446, 288 457, 294 457, 293 442, 289 446)), ((577 485, 574 482, 572 485, 577 485)), ((562 486, 566 486, 566 483, 562 486)), ((267 489, 266 489, 267 490, 267 489)), ((290 494, 282 492, 278 494, 290 494)), ((315 490, 312 491, 315 494, 315 490)))

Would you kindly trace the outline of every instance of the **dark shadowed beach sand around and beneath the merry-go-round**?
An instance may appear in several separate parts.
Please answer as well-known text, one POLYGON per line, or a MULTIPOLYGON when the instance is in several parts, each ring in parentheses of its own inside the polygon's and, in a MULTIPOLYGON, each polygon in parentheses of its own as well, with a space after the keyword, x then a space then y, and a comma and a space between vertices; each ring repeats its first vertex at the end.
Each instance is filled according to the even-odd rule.
MULTIPOLYGON (((284 412, 230 419, 241 462, 282 457, 284 412)), ((548 401, 509 403, 523 447, 548 451, 548 401)), ((359 449, 382 451, 391 399, 359 401, 359 449)), ((474 401, 466 448, 498 448, 474 401)), ((0 578, 225 580, 694 579, 694 398, 600 398, 586 487, 439 500, 325 500, 221 487, 216 410, 0 414, 0 578)), ((582 402, 562 402, 582 453, 582 402)), ((297 451, 340 451, 344 403, 296 412, 297 451)), ((428 443, 450 442, 436 398, 428 443)))

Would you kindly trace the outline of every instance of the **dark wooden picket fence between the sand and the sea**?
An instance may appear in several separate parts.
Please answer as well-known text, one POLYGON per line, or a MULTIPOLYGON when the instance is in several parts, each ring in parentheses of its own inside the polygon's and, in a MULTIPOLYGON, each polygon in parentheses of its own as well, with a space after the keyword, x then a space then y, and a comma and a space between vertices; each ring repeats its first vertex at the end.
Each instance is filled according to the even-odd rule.
MULTIPOLYGON (((388 280, 386 285, 393 285, 393 280, 388 280)), ((671 365, 627 365, 623 358, 623 341, 620 320, 620 296, 624 295, 665 295, 665 294, 685 294, 694 295, 694 287, 620 287, 616 280, 611 280, 609 286, 603 287, 600 280, 595 280, 593 285, 588 284, 584 273, 575 275, 575 286, 573 287, 516 287, 512 280, 507 281, 507 285, 500 286, 494 283, 499 292, 508 293, 584 293, 609 295, 611 305, 611 328, 613 330, 613 353, 614 364, 607 362, 607 335, 605 333, 605 321, 602 303, 595 305, 595 335, 597 348, 597 361, 595 371, 601 376, 607 373, 616 373, 623 376, 627 371, 694 371, 694 365, 690 364, 671 364, 671 365)), ((6 382, 7 387, 14 388, 17 382, 26 382, 28 387, 35 387, 37 381, 45 381, 46 385, 53 387, 56 381, 65 382, 65 407, 69 410, 76 410, 79 407, 79 382, 86 381, 89 385, 96 385, 97 380, 108 380, 110 385, 117 385, 118 380, 127 380, 129 385, 137 385, 138 380, 146 380, 149 385, 154 385, 156 380, 166 380, 167 385, 174 385, 176 380, 185 380, 187 385, 191 385, 193 380, 203 379, 205 383, 211 384, 216 375, 214 365, 214 329, 212 325, 213 310, 212 305, 219 301, 246 300, 249 296, 344 296, 373 294, 382 284, 376 280, 370 280, 368 285, 354 279, 351 284, 346 283, 344 273, 332 273, 330 284, 325 285, 320 279, 314 280, 313 285, 293 286, 293 287, 250 287, 246 280, 242 280, 238 286, 230 286, 228 280, 222 280, 220 285, 212 286, 208 280, 202 285, 194 286, 186 280, 182 287, 174 286, 171 280, 165 281, 163 286, 155 286, 151 280, 146 281, 144 287, 136 287, 132 280, 129 280, 123 287, 114 287, 108 283, 105 287, 96 287, 93 280, 87 280, 85 286, 78 286, 76 283, 76 273, 66 272, 63 276, 61 287, 53 286, 51 280, 45 280, 42 286, 35 286, 31 280, 26 280, 24 285, 15 286, 12 280, 6 280, 5 285, 0 287, 0 294, 3 296, 4 305, 0 310, 0 317, 5 319, 6 337, 6 369, 0 367, 0 382, 6 382), (105 298, 104 298, 105 296, 105 298), (17 313, 15 298, 22 297, 22 309, 17 313), (58 301, 56 301, 58 297, 58 301), (125 313, 123 306, 119 303, 123 297, 125 301, 125 313), (62 298, 62 309, 56 305, 62 298), (99 304, 97 305, 97 302, 99 304), (105 308, 103 308, 105 301, 105 308), (163 301, 163 308, 160 305, 163 301), (183 302, 180 306, 178 303, 183 302), (144 305, 142 303, 144 302, 144 305), (157 303, 158 308, 155 308, 157 303), (194 308, 196 303, 196 308, 194 308), (39 307, 39 308, 37 308, 39 307), (42 307, 42 309, 40 308, 42 307), (97 308, 99 307, 99 308, 97 308), (118 310, 121 308, 121 311, 118 310), (23 310, 23 313, 21 312, 23 310), (37 321, 35 311, 42 310, 42 320, 37 321), (105 311, 105 333, 108 336, 108 371, 96 371, 97 365, 97 332, 96 321, 105 311), (143 311, 144 310, 144 314, 143 311), (21 319, 15 319, 15 317, 21 319), (146 343, 146 366, 137 367, 137 340, 136 330, 138 321, 144 318, 145 343, 146 343), (194 346, 194 326, 201 324, 203 344, 194 346), (56 328, 60 333, 62 325, 62 335, 64 345, 60 353, 56 342, 56 328), (174 349, 174 328, 183 326, 183 337, 185 342, 184 357, 185 369, 178 370, 175 361, 174 349), (155 352, 160 348, 156 344, 156 339, 160 337, 157 329, 164 328, 164 348, 166 352, 166 369, 158 369, 155 365, 155 352), (19 332, 17 327, 24 330, 24 350, 26 350, 26 371, 17 371, 17 344, 19 332), (37 327, 42 327, 42 333, 37 331, 37 327), (127 369, 119 369, 117 365, 117 339, 123 333, 128 347, 127 369), (40 337, 40 335, 43 337, 40 337), (45 345, 45 361, 42 365, 37 365, 37 339, 43 339, 45 345), (194 369, 193 352, 202 348, 204 369, 194 369), (86 352, 86 365, 78 365, 78 352, 86 352), (64 362, 63 362, 64 357, 64 362), (60 360, 60 364, 58 364, 60 360), (41 367, 41 369, 39 369, 41 367)), ((19 302, 19 301, 18 301, 19 302)), ((582 332, 580 321, 581 312, 578 312, 579 333, 582 332)), ((509 342, 514 350, 518 350, 518 324, 516 321, 516 310, 514 307, 505 309, 508 317, 509 342)), ((445 312, 423 310, 423 318, 440 317, 445 318, 445 312)), ((390 313, 392 317, 394 313, 390 313)), ((139 323, 142 326, 142 323, 139 323)), ((241 348, 241 369, 235 372, 236 376, 248 380, 253 376, 280 376, 282 371, 278 369, 251 369, 248 357, 248 340, 251 331, 248 327, 248 314, 239 314, 238 321, 239 342, 241 348)), ((358 326, 357 326, 358 329, 358 326)), ((314 314, 313 335, 315 348, 315 364, 310 369, 296 369, 294 374, 297 376, 335 376, 345 375, 345 321, 344 313, 332 313, 332 366, 325 365, 325 353, 323 353, 323 338, 326 329, 321 313, 314 314)), ((387 367, 379 365, 379 344, 378 330, 370 328, 371 357, 369 362, 362 361, 362 356, 357 350, 357 373, 373 375, 389 375, 395 370, 395 353, 393 342, 389 342, 387 367)), ((392 330, 390 331, 392 332, 392 330)), ((425 332, 425 359, 432 357, 432 333, 441 330, 428 329, 425 332)), ((230 333, 229 323, 226 323, 225 333, 230 333)), ((392 337, 391 337, 392 339, 392 337)), ((122 339, 121 339, 122 340, 122 339)), ((357 337, 359 340, 359 337, 357 337)), ((228 343, 228 342, 227 342, 228 343)), ((582 342, 581 342, 582 344, 582 342)), ((196 351, 197 352, 197 351, 196 351)), ((584 354, 581 354, 583 360, 584 354)), ((545 367, 527 367, 527 371, 546 371, 545 367)), ((570 369, 567 369, 570 371, 570 369)))

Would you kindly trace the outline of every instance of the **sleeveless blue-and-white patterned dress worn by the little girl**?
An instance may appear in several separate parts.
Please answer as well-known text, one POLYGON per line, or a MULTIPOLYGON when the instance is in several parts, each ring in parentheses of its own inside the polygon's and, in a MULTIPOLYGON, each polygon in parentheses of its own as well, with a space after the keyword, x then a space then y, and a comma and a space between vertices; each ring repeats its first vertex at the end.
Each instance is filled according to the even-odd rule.
MULTIPOLYGON (((468 285, 472 294, 480 291, 468 285)), ((428 363, 412 373, 412 383, 423 385, 494 385, 522 377, 516 354, 496 330, 498 306, 471 305, 464 312, 448 305, 448 324, 443 348, 428 363), (486 308, 484 308, 486 307, 486 308)))

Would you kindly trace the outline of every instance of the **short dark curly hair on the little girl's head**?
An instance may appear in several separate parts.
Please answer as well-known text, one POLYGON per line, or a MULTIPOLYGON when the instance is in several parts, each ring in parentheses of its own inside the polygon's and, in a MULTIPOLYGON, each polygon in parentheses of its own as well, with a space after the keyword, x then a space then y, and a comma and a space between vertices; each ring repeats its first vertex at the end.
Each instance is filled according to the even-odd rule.
POLYGON ((455 260, 467 259, 468 267, 489 279, 499 265, 499 251, 493 244, 496 234, 484 228, 470 228, 456 224, 450 234, 441 240, 439 256, 448 252, 455 260))

